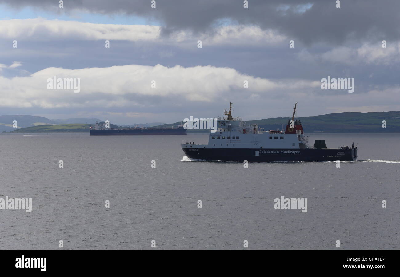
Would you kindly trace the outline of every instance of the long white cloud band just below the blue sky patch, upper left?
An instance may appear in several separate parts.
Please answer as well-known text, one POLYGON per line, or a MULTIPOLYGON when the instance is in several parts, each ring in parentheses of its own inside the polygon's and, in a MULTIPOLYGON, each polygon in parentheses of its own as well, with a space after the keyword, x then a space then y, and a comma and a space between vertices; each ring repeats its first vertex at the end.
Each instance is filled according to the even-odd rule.
MULTIPOLYGON (((286 39, 272 30, 258 26, 221 26, 212 34, 194 35, 178 31, 169 37, 160 36, 160 26, 94 24, 72 20, 10 19, 0 20, 0 38, 10 40, 151 40, 169 43, 197 42, 206 44, 274 44, 286 39)), ((194 44, 194 45, 197 45, 194 44)))

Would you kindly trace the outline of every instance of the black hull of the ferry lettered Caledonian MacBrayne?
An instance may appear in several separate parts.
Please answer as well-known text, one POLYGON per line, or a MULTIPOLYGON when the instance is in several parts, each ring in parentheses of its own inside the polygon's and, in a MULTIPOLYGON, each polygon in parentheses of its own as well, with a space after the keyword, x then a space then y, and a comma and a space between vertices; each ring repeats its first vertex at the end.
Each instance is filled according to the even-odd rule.
MULTIPOLYGON (((217 149, 190 147, 182 150, 193 159, 266 162, 266 161, 355 161, 357 149, 217 149)), ((195 146, 195 145, 193 145, 195 146)))

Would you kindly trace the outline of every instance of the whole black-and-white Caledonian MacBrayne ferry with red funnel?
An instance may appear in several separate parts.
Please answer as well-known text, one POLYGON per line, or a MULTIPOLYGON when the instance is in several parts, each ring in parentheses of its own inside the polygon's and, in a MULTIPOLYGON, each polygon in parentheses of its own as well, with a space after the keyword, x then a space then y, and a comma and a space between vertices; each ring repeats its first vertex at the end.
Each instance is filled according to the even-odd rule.
POLYGON ((186 142, 180 144, 189 158, 265 162, 265 161, 355 161, 357 147, 326 147, 325 140, 308 144, 302 123, 295 120, 297 102, 286 130, 264 131, 257 124, 246 124, 241 118, 232 117, 232 103, 224 110, 224 117, 217 118, 216 132, 210 132, 208 144, 186 142))

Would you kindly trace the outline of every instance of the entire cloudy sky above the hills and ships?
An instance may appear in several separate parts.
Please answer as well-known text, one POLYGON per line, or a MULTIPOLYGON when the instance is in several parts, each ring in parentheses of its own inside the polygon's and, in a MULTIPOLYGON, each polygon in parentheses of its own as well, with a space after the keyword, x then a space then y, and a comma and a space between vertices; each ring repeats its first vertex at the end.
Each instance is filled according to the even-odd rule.
POLYGON ((0 114, 134 124, 214 118, 229 102, 244 120, 289 117, 295 102, 300 117, 400 110, 400 1, 336 2, 0 0, 0 114), (54 76, 79 78, 80 92, 48 89, 54 76), (323 90, 328 76, 354 92, 323 90))

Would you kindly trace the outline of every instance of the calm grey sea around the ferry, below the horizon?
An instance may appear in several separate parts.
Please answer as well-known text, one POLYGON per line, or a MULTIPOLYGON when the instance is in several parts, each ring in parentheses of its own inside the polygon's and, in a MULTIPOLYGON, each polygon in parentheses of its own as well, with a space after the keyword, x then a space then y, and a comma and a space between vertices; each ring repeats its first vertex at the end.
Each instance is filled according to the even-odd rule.
POLYGON ((360 161, 187 161, 188 136, 2 134, 2 249, 399 249, 400 134, 310 134, 358 143, 360 161), (59 161, 64 167, 59 167, 59 161), (156 168, 151 161, 156 161, 156 168), (274 209, 304 197, 308 211, 274 209), (105 207, 105 201, 110 207, 105 207), (202 207, 197 207, 197 201, 202 207), (382 201, 387 208, 382 208, 382 201))

